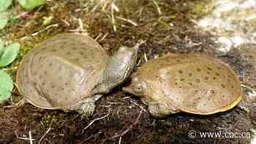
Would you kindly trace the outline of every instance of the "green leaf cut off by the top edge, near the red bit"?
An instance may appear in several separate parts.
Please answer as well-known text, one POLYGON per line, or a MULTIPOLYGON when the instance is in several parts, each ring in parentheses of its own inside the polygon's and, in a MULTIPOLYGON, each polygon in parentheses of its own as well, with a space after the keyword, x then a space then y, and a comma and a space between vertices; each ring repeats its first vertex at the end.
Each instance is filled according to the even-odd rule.
POLYGON ((45 3, 45 0, 18 0, 19 4, 26 10, 32 10, 45 3))

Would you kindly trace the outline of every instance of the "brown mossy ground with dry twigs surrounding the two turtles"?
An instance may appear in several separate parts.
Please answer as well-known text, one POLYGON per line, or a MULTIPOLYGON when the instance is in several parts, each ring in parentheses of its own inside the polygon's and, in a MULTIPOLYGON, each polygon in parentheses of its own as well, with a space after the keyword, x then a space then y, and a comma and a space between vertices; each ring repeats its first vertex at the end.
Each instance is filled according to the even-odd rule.
MULTIPOLYGON (((20 55, 10 67, 17 67, 26 53, 39 42, 55 34, 78 29, 79 20, 89 36, 97 39, 108 53, 120 45, 132 46, 139 39, 146 40, 140 47, 135 70, 148 59, 163 53, 209 53, 230 64, 241 83, 256 87, 256 45, 242 45, 228 53, 217 51, 216 37, 197 28, 193 22, 206 15, 206 1, 145 0, 116 1, 118 12, 111 16, 111 2, 106 6, 83 0, 47 1, 42 7, 29 12, 35 18, 22 17, 13 20, 1 37, 20 42, 20 55), (103 9, 103 8, 104 9, 103 9), (157 9, 159 7, 159 9, 157 9), (53 16, 45 26, 44 17, 53 16), (121 19, 126 18, 130 21, 121 19), (56 25, 58 24, 58 25, 56 25), (116 31, 113 30, 116 26, 116 31)), ((13 4, 15 11, 23 10, 13 4)), ((80 29, 81 31, 81 29, 80 29)), ((10 70, 15 79, 16 70, 10 70)), ((123 85, 127 85, 124 83, 123 85)), ((0 143, 250 143, 252 129, 256 129, 255 98, 244 88, 244 101, 224 113, 192 115, 177 113, 166 118, 153 118, 146 105, 135 96, 121 91, 121 86, 105 94, 89 118, 81 118, 76 112, 42 110, 20 101, 23 97, 15 88, 12 100, 0 108, 0 143), (189 131, 197 137, 189 138, 189 131), (199 132, 249 132, 247 138, 202 138, 199 132)))

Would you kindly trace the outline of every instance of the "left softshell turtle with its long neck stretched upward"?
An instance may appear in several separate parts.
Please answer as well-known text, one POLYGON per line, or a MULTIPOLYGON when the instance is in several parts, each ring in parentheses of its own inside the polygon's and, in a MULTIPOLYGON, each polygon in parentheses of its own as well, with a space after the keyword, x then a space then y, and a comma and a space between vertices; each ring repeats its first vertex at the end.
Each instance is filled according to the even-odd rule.
POLYGON ((59 34, 42 42, 18 68, 18 89, 44 109, 94 111, 102 94, 122 83, 136 63, 138 45, 121 46, 113 56, 89 36, 59 34))

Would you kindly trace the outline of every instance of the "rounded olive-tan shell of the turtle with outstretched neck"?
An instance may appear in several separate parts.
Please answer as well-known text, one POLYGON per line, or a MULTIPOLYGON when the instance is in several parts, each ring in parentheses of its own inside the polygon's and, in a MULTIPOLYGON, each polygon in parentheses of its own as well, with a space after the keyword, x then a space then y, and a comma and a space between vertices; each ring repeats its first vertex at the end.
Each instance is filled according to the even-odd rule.
POLYGON ((88 36, 59 34, 32 49, 18 68, 18 89, 31 104, 72 109, 93 88, 109 56, 88 36), (90 76, 90 77, 89 77, 90 76))

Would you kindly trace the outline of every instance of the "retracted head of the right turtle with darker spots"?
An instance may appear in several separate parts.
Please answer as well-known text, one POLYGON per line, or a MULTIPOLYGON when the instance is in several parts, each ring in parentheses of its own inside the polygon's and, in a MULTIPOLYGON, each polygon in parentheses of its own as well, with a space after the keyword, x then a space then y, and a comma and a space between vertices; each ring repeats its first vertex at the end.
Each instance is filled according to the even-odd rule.
POLYGON ((123 87, 123 91, 135 96, 145 96, 147 93, 146 83, 143 83, 143 80, 141 80, 136 74, 131 75, 131 79, 130 85, 123 87))

